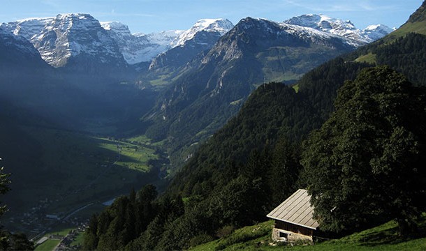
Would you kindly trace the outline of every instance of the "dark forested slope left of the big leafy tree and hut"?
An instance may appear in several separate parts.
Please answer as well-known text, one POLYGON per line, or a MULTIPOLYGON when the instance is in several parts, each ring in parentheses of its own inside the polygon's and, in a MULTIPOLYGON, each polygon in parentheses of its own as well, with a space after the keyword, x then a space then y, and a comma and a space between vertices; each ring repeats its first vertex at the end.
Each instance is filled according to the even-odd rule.
MULTIPOLYGON (((325 79, 332 80, 330 86, 333 86, 324 86, 325 89, 334 90, 367 66, 345 63, 342 59, 326 65, 339 70, 327 73, 323 69, 313 70, 305 77, 318 79, 316 75, 325 74, 325 79), (346 65, 350 67, 345 68, 346 65)), ((307 82, 309 80, 304 83, 307 82)), ((304 93, 303 89, 296 93, 293 88, 279 83, 260 86, 240 113, 211 137, 177 174, 167 195, 156 202, 159 207, 167 208, 161 205, 170 203, 167 201, 172 197, 172 201, 181 206, 179 210, 174 209, 179 213, 164 209, 168 216, 156 215, 146 231, 140 232, 144 234, 128 247, 180 249, 188 247, 189 243, 196 245, 208 236, 207 240, 220 236, 234 227, 264 220, 267 211, 299 185, 298 176, 302 168, 298 142, 309 131, 321 126, 323 121, 320 110, 311 102, 319 97, 304 93), (178 202, 182 197, 184 204, 178 202), (162 229, 157 230, 159 236, 149 234, 153 229, 162 229), (174 230, 169 233, 166 229, 174 230), (199 236, 200 233, 203 236, 199 236), (156 241, 156 246, 147 244, 156 241)), ((324 95, 323 100, 334 99, 326 90, 320 93, 324 95)), ((331 112, 332 106, 324 109, 331 112)), ((112 208, 116 206, 119 205, 114 204, 112 208)), ((122 225, 116 231, 124 229, 122 225)), ((97 233, 98 240, 101 240, 108 231, 97 233)), ((124 248, 126 244, 118 248, 124 248)))

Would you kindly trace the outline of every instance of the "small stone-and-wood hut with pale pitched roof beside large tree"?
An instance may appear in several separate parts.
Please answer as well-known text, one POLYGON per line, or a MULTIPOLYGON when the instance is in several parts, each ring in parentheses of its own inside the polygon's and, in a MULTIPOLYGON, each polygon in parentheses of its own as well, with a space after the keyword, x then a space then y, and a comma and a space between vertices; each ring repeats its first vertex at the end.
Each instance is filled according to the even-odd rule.
POLYGON ((307 190, 299 189, 267 214, 268 218, 275 220, 272 229, 274 241, 313 241, 318 222, 312 218, 314 207, 310 199, 307 190))

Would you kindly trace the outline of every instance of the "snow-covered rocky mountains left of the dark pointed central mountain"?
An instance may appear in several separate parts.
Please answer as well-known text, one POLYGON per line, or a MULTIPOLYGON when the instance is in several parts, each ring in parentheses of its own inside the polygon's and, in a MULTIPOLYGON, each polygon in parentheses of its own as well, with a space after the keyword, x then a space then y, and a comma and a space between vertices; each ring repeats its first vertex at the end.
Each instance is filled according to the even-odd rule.
MULTIPOLYGON (((152 61, 155 56, 194 38, 200 31, 223 35, 232 28, 228 20, 200 20, 187 31, 132 34, 119 22, 99 22, 88 14, 66 14, 1 24, 1 27, 29 40, 43 60, 62 67, 71 57, 87 54, 101 63, 114 62, 117 67, 152 61)), ((202 42, 200 42, 202 43, 202 42)), ((211 43, 211 42, 210 42, 211 43)))

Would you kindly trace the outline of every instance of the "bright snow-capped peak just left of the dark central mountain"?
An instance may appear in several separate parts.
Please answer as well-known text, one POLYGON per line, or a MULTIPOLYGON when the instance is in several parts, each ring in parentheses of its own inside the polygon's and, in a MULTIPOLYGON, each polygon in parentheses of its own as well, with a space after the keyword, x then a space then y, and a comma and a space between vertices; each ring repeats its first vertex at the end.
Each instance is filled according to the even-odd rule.
POLYGON ((184 45, 186 41, 191 40, 194 36, 196 36, 196 33, 200 31, 216 32, 219 33, 220 36, 223 36, 230 29, 233 29, 233 26, 232 22, 222 18, 198 20, 191 29, 184 31, 179 37, 172 41, 170 46, 177 47, 184 45))

